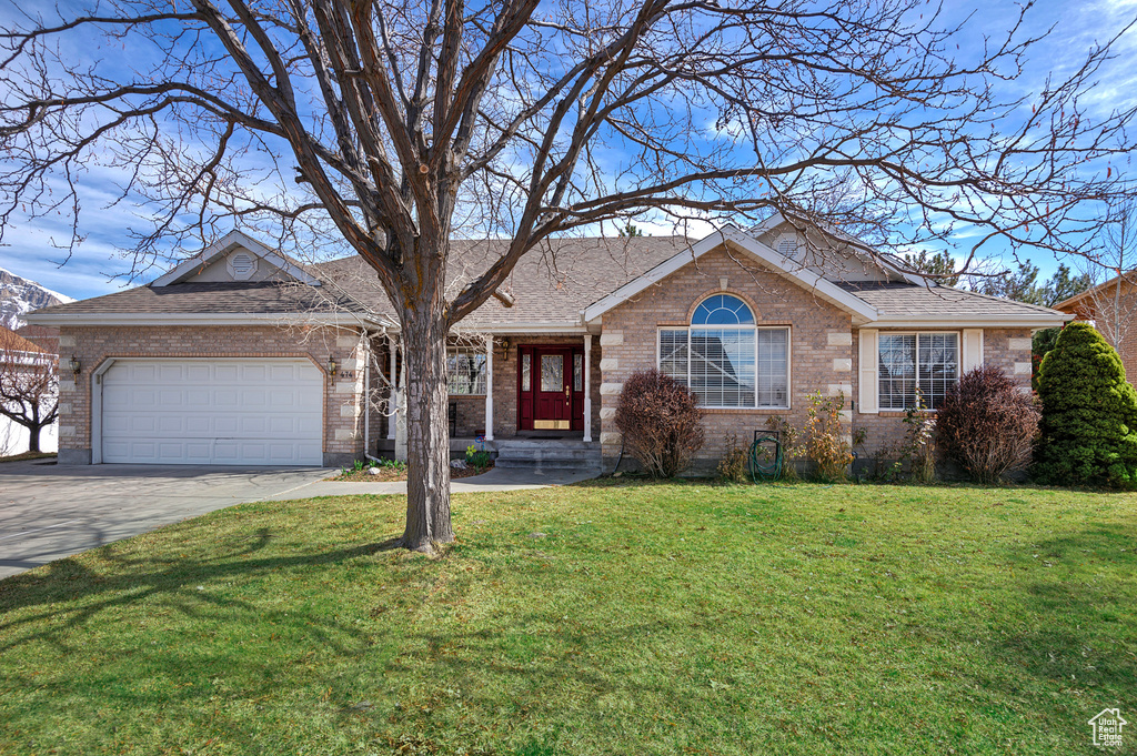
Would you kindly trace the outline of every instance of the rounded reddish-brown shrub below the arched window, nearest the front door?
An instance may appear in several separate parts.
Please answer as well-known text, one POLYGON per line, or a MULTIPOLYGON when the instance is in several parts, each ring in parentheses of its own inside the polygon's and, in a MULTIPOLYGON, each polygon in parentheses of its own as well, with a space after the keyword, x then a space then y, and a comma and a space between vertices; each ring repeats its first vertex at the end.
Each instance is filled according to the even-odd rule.
POLYGON ((703 448, 698 398, 655 368, 624 381, 615 419, 624 449, 653 477, 674 477, 703 448))

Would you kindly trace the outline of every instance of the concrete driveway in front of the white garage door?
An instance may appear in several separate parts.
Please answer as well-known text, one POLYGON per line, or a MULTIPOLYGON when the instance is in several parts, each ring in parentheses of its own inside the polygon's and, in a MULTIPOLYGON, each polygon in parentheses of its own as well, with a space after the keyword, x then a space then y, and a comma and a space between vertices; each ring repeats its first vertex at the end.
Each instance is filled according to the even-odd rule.
POLYGON ((234 504, 305 498, 332 472, 43 463, 0 464, 0 579, 234 504))

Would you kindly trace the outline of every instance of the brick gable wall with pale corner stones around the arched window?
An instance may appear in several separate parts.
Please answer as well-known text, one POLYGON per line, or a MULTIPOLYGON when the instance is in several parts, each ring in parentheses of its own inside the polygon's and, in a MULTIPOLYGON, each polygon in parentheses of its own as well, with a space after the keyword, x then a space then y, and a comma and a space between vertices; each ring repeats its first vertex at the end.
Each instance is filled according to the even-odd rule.
POLYGON ((696 459, 698 471, 713 471, 725 451, 728 434, 749 447, 754 431, 764 430, 772 415, 802 427, 810 393, 844 391, 852 396, 855 352, 847 313, 741 255, 707 252, 604 315, 600 442, 608 470, 620 452, 621 437, 613 417, 623 382, 634 371, 656 366, 659 327, 687 326, 696 305, 714 293, 740 297, 754 310, 760 326, 790 326, 791 408, 705 410, 706 445, 696 459))

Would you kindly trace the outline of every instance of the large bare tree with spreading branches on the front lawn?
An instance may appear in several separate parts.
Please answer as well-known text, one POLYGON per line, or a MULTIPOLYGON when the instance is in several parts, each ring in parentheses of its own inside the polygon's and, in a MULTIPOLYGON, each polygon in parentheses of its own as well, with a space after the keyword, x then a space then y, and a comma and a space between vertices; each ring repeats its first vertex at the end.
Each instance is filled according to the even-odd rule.
POLYGON ((5 30, 0 226, 63 213, 77 240, 84 171, 125 168, 157 218, 135 269, 234 222, 359 255, 401 326, 404 545, 429 551, 454 538, 447 333, 543 239, 778 209, 893 248, 963 224, 970 252, 1085 251, 1134 114, 1079 103, 1109 43, 1002 97, 1021 30, 969 55, 916 0, 109 0, 5 30), (508 243, 451 296, 462 234, 508 243))

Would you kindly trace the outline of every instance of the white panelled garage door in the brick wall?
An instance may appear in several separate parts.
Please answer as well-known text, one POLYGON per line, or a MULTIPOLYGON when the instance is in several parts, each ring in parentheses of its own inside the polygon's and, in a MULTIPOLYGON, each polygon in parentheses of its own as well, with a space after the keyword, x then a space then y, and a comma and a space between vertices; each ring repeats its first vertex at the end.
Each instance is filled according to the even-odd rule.
POLYGON ((102 375, 102 462, 319 465, 323 394, 306 359, 119 360, 102 375))

